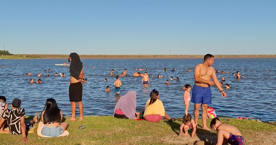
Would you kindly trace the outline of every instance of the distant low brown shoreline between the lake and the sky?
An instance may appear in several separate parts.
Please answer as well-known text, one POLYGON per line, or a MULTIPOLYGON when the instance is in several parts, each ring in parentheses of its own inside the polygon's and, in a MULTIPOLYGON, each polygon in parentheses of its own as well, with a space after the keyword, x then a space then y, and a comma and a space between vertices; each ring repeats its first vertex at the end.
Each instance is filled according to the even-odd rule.
MULTIPOLYGON (((214 55, 215 58, 276 58, 272 55, 214 55)), ((52 54, 15 54, 12 56, 0 56, 5 59, 67 59, 68 55, 52 54), (25 56, 25 57, 24 57, 25 56)), ((185 59, 203 58, 204 55, 80 55, 81 59, 185 59)))

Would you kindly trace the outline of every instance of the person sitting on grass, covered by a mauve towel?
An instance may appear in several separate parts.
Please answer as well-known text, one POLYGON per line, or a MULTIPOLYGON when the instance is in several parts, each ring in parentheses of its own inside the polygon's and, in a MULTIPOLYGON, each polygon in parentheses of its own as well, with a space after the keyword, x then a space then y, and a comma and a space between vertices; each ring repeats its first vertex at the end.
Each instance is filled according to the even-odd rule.
POLYGON ((121 96, 119 101, 117 102, 113 117, 120 118, 120 119, 136 119, 136 92, 129 91, 125 95, 121 96))

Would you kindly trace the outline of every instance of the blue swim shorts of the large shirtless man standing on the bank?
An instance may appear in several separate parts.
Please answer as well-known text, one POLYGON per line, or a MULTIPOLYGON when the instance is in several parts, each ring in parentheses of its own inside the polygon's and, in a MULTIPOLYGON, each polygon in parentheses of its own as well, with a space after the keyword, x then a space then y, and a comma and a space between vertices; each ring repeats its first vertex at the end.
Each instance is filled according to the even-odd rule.
POLYGON ((211 88, 194 85, 191 102, 196 104, 212 104, 211 88))

